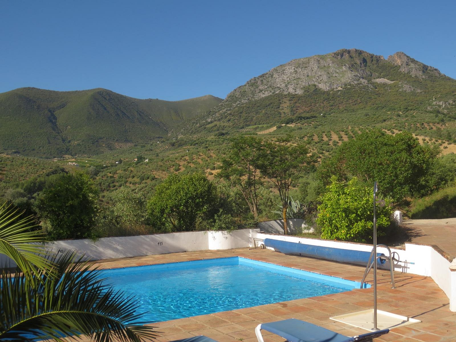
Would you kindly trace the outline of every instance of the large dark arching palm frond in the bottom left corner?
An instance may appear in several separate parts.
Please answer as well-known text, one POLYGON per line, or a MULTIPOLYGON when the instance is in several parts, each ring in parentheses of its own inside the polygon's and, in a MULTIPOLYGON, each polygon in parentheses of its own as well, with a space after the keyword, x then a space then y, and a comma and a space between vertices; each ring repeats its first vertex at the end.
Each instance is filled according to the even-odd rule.
POLYGON ((86 335, 93 341, 139 342, 155 336, 139 322, 140 303, 115 291, 74 253, 50 258, 53 272, 29 281, 4 272, 0 279, 0 341, 60 340, 86 335))

